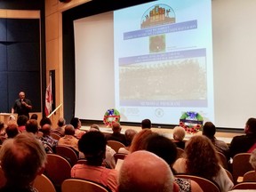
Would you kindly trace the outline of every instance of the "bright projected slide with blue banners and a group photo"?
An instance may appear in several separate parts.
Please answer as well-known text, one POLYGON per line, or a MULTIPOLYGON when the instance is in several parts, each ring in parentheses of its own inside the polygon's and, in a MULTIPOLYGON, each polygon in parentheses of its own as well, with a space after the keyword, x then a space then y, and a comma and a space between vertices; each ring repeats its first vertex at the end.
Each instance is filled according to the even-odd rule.
POLYGON ((156 1, 114 12, 115 103, 124 122, 214 121, 211 1, 156 1))

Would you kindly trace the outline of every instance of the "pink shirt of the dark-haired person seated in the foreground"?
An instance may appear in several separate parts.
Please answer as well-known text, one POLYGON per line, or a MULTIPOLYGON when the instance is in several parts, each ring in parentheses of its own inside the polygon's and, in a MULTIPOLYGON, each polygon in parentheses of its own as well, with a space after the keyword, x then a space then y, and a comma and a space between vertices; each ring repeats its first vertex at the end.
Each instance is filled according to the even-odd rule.
POLYGON ((75 164, 71 169, 72 178, 92 180, 98 182, 111 191, 116 191, 118 172, 114 169, 107 169, 103 166, 92 166, 87 164, 75 164))

